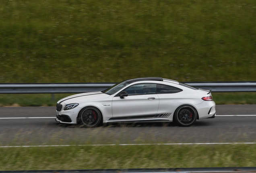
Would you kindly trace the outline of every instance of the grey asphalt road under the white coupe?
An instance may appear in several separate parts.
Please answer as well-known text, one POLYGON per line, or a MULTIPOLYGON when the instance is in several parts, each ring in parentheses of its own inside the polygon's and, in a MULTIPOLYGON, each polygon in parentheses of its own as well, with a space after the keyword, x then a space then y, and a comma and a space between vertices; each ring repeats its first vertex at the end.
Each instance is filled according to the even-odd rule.
POLYGON ((136 123, 87 129, 56 123, 55 107, 0 107, 0 146, 256 142, 256 105, 217 105, 216 110, 218 117, 196 121, 191 127, 136 123))

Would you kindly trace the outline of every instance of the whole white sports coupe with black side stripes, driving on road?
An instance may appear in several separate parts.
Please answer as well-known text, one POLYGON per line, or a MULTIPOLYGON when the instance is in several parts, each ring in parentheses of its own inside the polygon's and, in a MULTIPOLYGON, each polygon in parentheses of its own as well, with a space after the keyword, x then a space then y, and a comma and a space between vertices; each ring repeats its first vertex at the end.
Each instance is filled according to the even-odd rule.
POLYGON ((172 122, 193 125, 214 118, 211 90, 160 78, 124 80, 105 91, 82 93, 61 99, 56 105, 58 123, 96 127, 101 123, 172 122))

